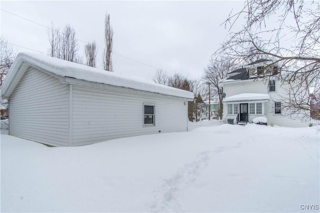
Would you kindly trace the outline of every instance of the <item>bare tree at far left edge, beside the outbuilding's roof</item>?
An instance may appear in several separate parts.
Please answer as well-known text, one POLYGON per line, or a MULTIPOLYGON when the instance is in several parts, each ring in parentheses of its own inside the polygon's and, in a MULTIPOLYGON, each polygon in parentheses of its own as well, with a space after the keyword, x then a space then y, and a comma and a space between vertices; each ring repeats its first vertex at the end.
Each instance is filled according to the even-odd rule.
POLYGON ((0 86, 13 63, 14 58, 15 54, 12 47, 8 46, 7 41, 3 37, 0 37, 0 86))

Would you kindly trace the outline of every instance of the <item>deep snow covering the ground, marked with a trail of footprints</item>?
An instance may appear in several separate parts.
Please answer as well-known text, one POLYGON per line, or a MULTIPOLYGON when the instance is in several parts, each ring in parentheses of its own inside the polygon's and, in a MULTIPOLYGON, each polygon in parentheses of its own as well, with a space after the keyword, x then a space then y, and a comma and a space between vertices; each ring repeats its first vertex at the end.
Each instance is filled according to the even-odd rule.
POLYGON ((81 147, 1 131, 1 212, 319 212, 314 128, 223 124, 81 147), (305 206, 301 206, 305 205, 305 206))

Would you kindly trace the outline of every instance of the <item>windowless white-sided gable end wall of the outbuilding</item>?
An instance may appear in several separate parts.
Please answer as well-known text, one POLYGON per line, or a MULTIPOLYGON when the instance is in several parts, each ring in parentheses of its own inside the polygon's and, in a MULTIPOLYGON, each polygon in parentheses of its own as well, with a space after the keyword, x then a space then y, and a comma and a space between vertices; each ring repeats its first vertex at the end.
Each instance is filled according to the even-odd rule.
POLYGON ((29 67, 9 100, 9 134, 68 146, 68 86, 29 67))

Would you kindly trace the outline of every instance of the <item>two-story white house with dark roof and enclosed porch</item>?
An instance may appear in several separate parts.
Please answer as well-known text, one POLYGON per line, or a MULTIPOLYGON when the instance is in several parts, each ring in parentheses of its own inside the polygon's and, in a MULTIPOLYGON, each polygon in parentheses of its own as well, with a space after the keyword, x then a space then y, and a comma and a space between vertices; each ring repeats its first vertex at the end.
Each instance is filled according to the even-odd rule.
POLYGON ((281 104, 285 97, 285 85, 277 80, 278 74, 277 65, 268 59, 259 59, 229 72, 227 79, 219 83, 225 93, 223 120, 233 119, 234 124, 245 124, 251 123, 254 118, 264 117, 268 125, 308 126, 308 122, 284 116, 285 109, 281 104), (259 77, 265 75, 269 77, 259 77))

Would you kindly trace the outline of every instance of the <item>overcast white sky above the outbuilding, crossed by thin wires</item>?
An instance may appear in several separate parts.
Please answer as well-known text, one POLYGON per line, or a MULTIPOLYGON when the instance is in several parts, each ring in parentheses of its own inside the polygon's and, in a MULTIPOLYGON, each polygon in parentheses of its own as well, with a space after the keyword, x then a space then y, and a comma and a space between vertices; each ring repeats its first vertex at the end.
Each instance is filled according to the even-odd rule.
MULTIPOLYGON (((241 9, 243 1, 1 0, 0 6, 1 36, 9 43, 44 54, 49 47, 48 29, 38 24, 49 27, 51 22, 61 29, 70 24, 76 31, 76 38, 87 42, 95 40, 103 48, 107 11, 114 31, 114 72, 151 80, 155 68, 162 68, 169 75, 200 77, 210 55, 228 33, 220 24, 232 9, 241 9)), ((83 55, 85 43, 78 43, 79 54, 83 55)), ((17 46, 13 49, 34 52, 17 46)), ((101 57, 99 50, 97 68, 101 68, 101 57)))

